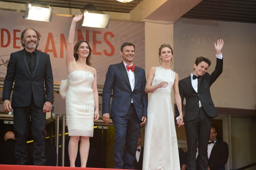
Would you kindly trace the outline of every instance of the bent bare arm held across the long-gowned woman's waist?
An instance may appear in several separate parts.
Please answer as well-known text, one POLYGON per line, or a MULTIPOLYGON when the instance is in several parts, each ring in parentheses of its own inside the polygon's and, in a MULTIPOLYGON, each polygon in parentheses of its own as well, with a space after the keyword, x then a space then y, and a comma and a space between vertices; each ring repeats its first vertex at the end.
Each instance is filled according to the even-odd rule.
POLYGON ((160 82, 157 85, 152 85, 155 72, 156 72, 156 68, 151 67, 150 71, 148 72, 147 82, 145 86, 145 93, 151 93, 157 90, 157 88, 166 88, 168 86, 168 82, 160 82))

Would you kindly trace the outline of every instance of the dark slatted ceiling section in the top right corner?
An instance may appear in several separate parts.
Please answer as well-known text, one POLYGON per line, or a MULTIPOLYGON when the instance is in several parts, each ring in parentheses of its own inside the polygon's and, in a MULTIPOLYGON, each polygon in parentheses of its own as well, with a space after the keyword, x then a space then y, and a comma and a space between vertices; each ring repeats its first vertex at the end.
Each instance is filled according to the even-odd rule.
POLYGON ((182 17, 256 23, 256 0, 202 0, 182 17))

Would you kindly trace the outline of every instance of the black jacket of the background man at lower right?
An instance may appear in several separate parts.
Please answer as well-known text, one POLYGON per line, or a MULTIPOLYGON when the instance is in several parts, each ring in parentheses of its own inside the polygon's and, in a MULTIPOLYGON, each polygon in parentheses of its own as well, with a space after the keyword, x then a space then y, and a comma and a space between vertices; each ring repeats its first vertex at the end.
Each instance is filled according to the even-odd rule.
POLYGON ((216 140, 208 159, 210 170, 225 170, 228 159, 228 146, 224 141, 216 140))

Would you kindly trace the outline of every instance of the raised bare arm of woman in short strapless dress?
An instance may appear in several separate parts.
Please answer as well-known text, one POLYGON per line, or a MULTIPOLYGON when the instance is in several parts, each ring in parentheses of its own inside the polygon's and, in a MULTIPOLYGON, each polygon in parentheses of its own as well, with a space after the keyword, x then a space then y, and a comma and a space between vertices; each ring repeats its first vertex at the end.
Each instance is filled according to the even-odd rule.
POLYGON ((76 15, 71 22, 70 31, 67 39, 67 53, 66 53, 66 64, 67 64, 68 72, 70 69, 72 69, 73 62, 76 61, 73 56, 73 52, 74 52, 73 42, 75 39, 76 23, 79 22, 82 19, 82 17, 83 15, 76 15))

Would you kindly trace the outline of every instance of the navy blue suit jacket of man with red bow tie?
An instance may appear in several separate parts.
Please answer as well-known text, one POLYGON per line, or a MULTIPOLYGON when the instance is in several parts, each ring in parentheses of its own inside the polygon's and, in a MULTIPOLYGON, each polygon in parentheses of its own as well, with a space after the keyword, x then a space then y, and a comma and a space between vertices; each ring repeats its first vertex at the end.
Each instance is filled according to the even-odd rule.
POLYGON ((125 116, 130 108, 131 99, 133 99, 138 118, 141 120, 142 116, 147 116, 148 94, 144 91, 145 71, 135 66, 134 76, 134 90, 131 91, 124 63, 109 66, 102 93, 102 114, 111 113, 111 117, 125 116), (112 90, 113 99, 110 106, 112 90))

